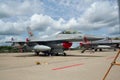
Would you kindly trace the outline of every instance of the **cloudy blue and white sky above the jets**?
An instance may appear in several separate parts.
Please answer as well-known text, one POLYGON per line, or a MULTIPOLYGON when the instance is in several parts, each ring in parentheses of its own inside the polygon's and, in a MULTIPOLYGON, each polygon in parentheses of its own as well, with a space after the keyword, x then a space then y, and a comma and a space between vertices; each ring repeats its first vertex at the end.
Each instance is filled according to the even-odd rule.
POLYGON ((74 29, 97 36, 118 36, 117 0, 0 0, 0 42, 74 29))

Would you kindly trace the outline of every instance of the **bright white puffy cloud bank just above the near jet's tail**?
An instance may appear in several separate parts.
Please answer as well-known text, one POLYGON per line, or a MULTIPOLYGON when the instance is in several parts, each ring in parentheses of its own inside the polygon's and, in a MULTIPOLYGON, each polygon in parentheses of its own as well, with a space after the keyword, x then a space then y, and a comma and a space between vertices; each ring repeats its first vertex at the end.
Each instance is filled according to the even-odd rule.
POLYGON ((74 18, 66 21, 63 18, 58 20, 53 19, 50 16, 43 14, 34 14, 30 18, 30 27, 33 30, 45 31, 45 30, 65 30, 74 27, 78 27, 79 23, 74 18))

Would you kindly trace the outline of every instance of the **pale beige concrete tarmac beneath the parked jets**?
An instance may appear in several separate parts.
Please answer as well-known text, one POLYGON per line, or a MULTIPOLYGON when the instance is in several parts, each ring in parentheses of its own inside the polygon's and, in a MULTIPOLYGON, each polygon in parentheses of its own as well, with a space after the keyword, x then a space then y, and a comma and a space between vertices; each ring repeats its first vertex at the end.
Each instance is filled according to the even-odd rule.
MULTIPOLYGON (((0 80, 103 80, 118 51, 66 53, 67 56, 0 53, 0 80)), ((105 80, 120 80, 120 66, 114 65, 105 80)))

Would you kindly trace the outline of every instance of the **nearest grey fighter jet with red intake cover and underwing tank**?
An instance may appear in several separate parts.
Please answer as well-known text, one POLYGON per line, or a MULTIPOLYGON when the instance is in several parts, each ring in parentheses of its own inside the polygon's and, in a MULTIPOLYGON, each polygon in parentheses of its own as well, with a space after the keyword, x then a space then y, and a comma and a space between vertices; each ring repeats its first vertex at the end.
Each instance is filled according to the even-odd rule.
POLYGON ((102 37, 85 35, 74 30, 65 30, 55 36, 50 36, 47 38, 36 37, 30 27, 27 27, 27 31, 29 38, 26 38, 26 41, 12 41, 12 43, 14 43, 14 45, 19 44, 19 46, 29 47, 34 50, 36 55, 39 55, 39 53, 42 52, 44 55, 62 54, 66 56, 64 50, 69 49, 72 46, 72 42, 80 42, 84 37, 86 37, 89 41, 103 39, 102 37))

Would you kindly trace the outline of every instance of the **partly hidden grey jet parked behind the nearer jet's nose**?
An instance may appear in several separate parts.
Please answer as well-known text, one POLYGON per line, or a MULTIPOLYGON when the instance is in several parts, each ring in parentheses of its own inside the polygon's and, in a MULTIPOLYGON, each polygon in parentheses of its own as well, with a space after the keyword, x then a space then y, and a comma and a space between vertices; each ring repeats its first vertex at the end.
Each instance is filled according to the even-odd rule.
POLYGON ((86 50, 94 49, 97 51, 102 51, 102 49, 114 49, 120 48, 120 40, 112 40, 110 38, 98 40, 98 41, 89 41, 87 38, 84 37, 84 41, 80 42, 80 46, 84 47, 82 50, 82 53, 84 53, 86 50))

